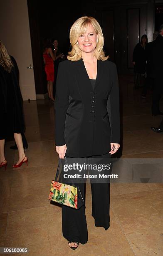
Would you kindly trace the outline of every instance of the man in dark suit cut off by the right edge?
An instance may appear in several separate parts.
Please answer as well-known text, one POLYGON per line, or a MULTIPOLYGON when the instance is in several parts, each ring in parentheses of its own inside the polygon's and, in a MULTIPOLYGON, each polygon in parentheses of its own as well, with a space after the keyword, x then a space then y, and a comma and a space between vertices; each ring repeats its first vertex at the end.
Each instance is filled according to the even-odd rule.
POLYGON ((154 75, 154 88, 153 88, 153 103, 152 115, 163 115, 159 109, 159 101, 163 92, 163 24, 159 28, 159 35, 153 45, 153 75, 154 75))

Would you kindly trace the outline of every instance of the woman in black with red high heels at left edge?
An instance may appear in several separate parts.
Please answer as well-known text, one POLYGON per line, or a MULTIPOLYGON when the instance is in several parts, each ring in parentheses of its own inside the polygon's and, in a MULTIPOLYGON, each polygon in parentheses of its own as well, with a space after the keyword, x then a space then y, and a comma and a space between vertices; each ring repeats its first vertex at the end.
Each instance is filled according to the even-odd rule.
POLYGON ((8 55, 7 50, 0 41, 0 167, 7 166, 5 159, 5 138, 14 134, 19 159, 12 167, 20 167, 27 163, 21 133, 25 131, 22 110, 22 95, 17 81, 15 59, 8 55))

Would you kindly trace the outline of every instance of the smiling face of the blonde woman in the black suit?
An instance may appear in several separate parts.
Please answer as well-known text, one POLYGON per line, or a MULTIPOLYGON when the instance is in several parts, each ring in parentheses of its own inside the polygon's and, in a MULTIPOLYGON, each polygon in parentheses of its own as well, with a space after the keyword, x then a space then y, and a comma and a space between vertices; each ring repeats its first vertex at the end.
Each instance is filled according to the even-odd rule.
POLYGON ((78 46, 81 51, 92 52, 96 48, 98 36, 94 31, 94 27, 89 24, 85 34, 80 35, 78 38, 78 46))

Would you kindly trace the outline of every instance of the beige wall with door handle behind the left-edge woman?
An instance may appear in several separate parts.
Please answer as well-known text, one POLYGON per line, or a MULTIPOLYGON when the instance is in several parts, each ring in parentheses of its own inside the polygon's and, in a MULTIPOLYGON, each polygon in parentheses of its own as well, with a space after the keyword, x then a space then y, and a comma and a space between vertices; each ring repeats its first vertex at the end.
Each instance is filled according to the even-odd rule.
POLYGON ((0 0, 0 40, 17 61, 23 100, 35 100, 27 0, 0 0))

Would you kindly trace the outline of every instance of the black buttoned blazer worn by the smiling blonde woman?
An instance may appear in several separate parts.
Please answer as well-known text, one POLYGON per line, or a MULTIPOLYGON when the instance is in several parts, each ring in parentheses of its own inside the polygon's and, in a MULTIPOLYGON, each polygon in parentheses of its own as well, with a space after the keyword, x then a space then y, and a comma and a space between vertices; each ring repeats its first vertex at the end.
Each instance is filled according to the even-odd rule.
POLYGON ((97 61, 94 91, 84 62, 59 63, 55 97, 55 142, 66 155, 106 154, 120 142, 119 85, 116 65, 97 61))

